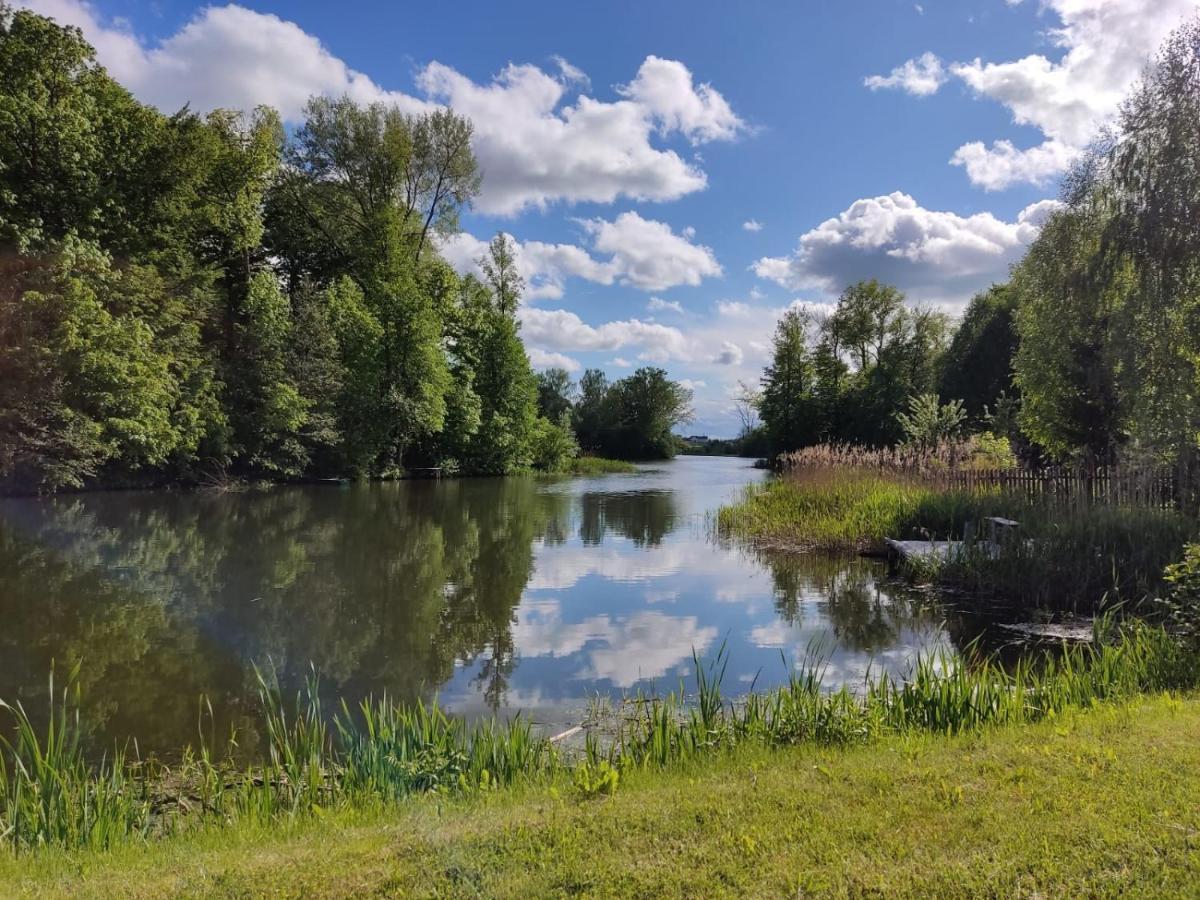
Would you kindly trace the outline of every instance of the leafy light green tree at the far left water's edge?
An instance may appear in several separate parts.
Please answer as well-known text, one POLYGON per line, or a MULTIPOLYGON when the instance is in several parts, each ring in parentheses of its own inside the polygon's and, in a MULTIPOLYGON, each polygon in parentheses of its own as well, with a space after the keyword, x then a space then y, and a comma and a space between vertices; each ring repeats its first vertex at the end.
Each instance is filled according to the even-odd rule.
POLYGON ((220 426, 198 334, 169 322, 156 334, 138 314, 169 290, 156 272, 118 270, 74 239, 52 262, 10 265, 0 290, 0 481, 78 487, 104 467, 163 466, 220 426))

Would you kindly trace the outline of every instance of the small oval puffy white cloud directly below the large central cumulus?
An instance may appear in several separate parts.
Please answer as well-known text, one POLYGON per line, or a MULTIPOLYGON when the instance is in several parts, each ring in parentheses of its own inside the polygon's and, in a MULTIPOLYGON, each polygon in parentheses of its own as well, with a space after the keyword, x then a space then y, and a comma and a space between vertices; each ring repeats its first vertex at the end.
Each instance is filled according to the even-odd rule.
POLYGON ((622 212, 612 222, 582 221, 592 235, 593 248, 612 256, 611 265, 622 284, 642 290, 666 290, 679 284, 700 284, 721 274, 708 247, 692 244, 692 229, 676 234, 665 222, 622 212))

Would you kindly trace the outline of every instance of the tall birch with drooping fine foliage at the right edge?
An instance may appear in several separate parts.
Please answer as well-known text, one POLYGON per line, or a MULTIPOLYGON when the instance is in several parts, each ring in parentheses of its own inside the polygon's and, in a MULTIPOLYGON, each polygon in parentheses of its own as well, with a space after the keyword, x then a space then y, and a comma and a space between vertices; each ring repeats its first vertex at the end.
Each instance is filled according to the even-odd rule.
POLYGON ((1014 272, 1021 425, 1057 456, 1195 452, 1200 20, 1182 25, 1075 167, 1014 272))

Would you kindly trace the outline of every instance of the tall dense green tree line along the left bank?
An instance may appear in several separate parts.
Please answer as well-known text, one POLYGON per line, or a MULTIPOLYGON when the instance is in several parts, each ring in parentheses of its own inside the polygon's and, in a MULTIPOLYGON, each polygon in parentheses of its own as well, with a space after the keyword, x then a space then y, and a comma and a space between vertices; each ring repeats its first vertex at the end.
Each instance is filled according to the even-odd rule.
MULTIPOLYGON (((562 468, 515 247, 481 277, 437 252, 480 191, 470 140, 454 112, 348 98, 290 132, 164 115, 77 29, 0 2, 0 487, 562 468)), ((666 451, 678 390, 606 385, 578 443, 666 451)))

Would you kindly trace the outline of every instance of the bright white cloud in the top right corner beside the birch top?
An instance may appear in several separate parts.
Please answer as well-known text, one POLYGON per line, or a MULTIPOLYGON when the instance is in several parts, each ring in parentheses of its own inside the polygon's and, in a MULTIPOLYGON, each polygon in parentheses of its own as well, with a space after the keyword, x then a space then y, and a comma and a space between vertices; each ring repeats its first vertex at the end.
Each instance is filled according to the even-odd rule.
POLYGON ((1066 170, 1097 130, 1112 121, 1142 67, 1196 6, 1195 0, 1040 0, 1040 8, 1058 18, 1060 25, 1048 32, 1062 50, 1057 59, 1034 53, 949 67, 978 96, 1007 107, 1014 122, 1044 136, 1028 149, 1009 140, 959 148, 952 162, 986 190, 1045 184, 1066 170))

